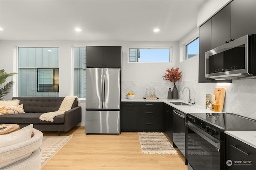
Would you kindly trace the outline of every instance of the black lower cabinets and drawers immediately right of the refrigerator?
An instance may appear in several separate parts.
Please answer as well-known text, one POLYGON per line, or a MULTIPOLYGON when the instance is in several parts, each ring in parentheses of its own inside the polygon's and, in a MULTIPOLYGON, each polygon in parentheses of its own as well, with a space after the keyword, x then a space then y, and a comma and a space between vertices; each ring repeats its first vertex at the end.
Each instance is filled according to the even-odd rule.
POLYGON ((121 131, 160 132, 163 130, 162 102, 122 102, 121 131))

